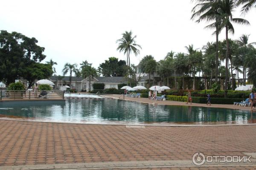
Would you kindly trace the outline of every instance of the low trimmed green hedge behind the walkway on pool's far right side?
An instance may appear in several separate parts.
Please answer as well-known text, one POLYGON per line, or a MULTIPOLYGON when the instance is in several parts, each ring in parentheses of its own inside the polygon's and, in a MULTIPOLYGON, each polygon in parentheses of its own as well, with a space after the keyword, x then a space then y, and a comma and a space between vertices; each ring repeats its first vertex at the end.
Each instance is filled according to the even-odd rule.
MULTIPOLYGON (((187 96, 172 96, 167 95, 167 100, 179 101, 179 102, 187 102, 187 96)), ((234 102, 241 102, 243 99, 230 99, 230 98, 211 98, 212 104, 232 104, 234 102)), ((207 97, 192 97, 193 103, 207 103, 207 97)))

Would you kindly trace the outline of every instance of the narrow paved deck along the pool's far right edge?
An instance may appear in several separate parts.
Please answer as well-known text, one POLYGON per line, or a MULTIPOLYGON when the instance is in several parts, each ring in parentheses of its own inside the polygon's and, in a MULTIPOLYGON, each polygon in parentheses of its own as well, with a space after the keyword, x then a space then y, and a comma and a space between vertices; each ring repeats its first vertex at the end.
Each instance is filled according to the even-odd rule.
MULTIPOLYGON (((123 99, 123 95, 121 94, 110 94, 110 95, 101 95, 101 96, 106 96, 109 98, 114 98, 114 99, 123 99)), ((150 103, 150 104, 156 104, 156 105, 181 105, 181 106, 201 106, 201 107, 209 107, 209 108, 230 108, 230 109, 243 109, 243 110, 251 110, 250 107, 246 106, 236 106, 236 105, 220 105, 220 104, 212 104, 212 105, 206 105, 206 104, 201 104, 201 103, 190 103, 186 104, 186 102, 176 102, 176 101, 170 101, 170 100, 165 100, 165 101, 157 101, 157 100, 150 100, 148 98, 133 98, 133 97, 126 97, 125 100, 130 100, 130 101, 136 101, 136 102, 144 102, 144 103, 150 103)))

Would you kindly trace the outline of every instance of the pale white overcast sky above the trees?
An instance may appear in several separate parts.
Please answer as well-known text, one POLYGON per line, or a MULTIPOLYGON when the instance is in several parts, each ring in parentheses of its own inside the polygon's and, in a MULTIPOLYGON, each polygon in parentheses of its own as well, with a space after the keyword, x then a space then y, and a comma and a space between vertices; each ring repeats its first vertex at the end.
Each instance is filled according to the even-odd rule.
MULTIPOLYGON (((116 51, 116 40, 124 31, 137 35, 142 46, 140 55, 131 55, 131 63, 138 64, 151 54, 158 61, 167 52, 186 52, 184 46, 202 48, 207 41, 215 41, 206 23, 190 20, 190 0, 3 0, 0 10, 0 29, 17 31, 35 37, 45 48, 45 61, 53 59, 57 74, 66 62, 87 60, 98 67, 108 57, 126 59, 116 51)), ((249 42, 256 42, 256 9, 241 16, 250 26, 234 24, 238 39, 250 34, 249 42)), ((225 37, 224 31, 220 40, 225 37)))

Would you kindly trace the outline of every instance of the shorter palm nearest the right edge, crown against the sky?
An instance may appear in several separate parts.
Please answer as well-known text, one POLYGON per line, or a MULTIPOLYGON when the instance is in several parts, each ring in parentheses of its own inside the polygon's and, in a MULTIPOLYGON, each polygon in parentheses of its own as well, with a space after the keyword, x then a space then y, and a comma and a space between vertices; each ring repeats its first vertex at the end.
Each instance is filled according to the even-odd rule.
MULTIPOLYGON (((249 36, 250 35, 243 34, 241 37, 239 37, 239 40, 236 40, 236 42, 238 43, 238 45, 240 47, 239 51, 241 51, 241 57, 243 58, 242 59, 243 61, 245 60, 246 53, 248 52, 248 48, 251 48, 251 47, 253 47, 253 44, 256 44, 256 42, 248 43, 249 36)), ((244 85, 246 84, 245 83, 246 82, 246 71, 247 71, 247 68, 244 63, 243 64, 243 83, 244 83, 244 85)))

